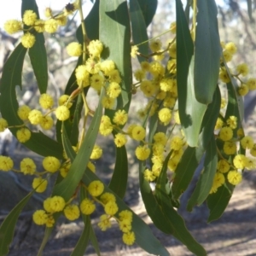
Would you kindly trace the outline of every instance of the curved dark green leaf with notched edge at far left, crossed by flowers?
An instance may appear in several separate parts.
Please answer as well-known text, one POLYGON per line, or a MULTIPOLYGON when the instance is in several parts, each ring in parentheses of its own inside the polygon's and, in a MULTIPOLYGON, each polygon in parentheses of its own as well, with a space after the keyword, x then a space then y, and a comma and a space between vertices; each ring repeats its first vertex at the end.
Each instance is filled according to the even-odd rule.
MULTIPOLYGON (((26 49, 22 44, 19 44, 3 67, 0 87, 0 109, 3 118, 8 121, 9 126, 24 124, 17 114, 19 103, 16 99, 15 86, 19 85, 21 89, 21 72, 25 55, 26 49)), ((10 128, 9 130, 16 137, 16 132, 19 128, 10 128)), ((52 155, 59 159, 62 158, 61 144, 55 142, 40 131, 32 131, 31 138, 23 144, 37 154, 44 156, 52 155)))

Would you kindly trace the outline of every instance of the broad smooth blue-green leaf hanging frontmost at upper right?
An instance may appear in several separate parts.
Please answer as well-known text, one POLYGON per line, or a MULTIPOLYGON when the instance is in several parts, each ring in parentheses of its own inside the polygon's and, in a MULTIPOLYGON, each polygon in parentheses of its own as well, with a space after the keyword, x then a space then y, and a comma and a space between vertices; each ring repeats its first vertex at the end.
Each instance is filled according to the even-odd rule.
POLYGON ((214 0, 197 0, 195 29, 195 98, 209 104, 218 83, 220 39, 214 0))

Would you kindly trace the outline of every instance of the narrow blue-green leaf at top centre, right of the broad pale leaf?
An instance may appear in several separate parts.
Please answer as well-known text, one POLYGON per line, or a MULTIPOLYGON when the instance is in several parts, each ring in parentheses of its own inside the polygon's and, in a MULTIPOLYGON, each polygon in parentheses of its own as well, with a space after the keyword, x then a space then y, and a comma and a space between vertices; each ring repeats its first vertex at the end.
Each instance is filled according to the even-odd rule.
MULTIPOLYGON (((148 33, 147 26, 143 17, 142 10, 137 0, 130 0, 130 17, 133 44, 138 45, 138 51, 143 55, 148 55, 148 33)), ((140 55, 137 55, 138 61, 145 61, 140 55)))

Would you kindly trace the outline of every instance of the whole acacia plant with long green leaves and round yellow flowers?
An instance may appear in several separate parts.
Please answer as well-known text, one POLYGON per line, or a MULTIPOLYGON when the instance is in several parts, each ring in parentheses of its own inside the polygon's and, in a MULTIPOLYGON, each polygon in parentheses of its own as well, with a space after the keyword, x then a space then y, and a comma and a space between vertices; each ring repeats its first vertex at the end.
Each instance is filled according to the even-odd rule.
POLYGON ((26 148, 42 155, 44 171, 31 158, 21 160, 17 170, 9 156, 0 156, 1 171, 34 177, 32 191, 1 225, 0 255, 9 252, 23 207, 33 193, 44 193, 56 172, 50 197, 32 215, 35 224, 45 226, 38 255, 42 255, 61 215, 70 221, 79 217, 84 221, 84 231, 72 255, 84 255, 88 241, 100 255, 90 223, 96 207, 104 211, 98 223, 102 231, 111 228, 115 219, 126 245, 137 243, 148 253, 169 255, 148 225, 122 201, 129 170, 125 149, 128 138, 137 143, 133 157, 139 162, 140 191, 154 225, 195 255, 207 254, 177 213, 179 198, 203 159, 187 209, 191 212, 207 202, 211 222, 224 212, 244 170, 255 167, 256 144, 244 135, 241 121, 242 96, 256 89, 256 79, 247 77, 245 63, 227 65, 236 54, 236 45, 219 38, 215 1, 194 0, 192 6, 190 2, 183 9, 181 0, 176 0, 176 20, 162 32, 169 38, 165 43, 161 35, 147 35, 155 0, 130 0, 129 6, 125 0, 96 0, 85 19, 79 0, 68 3, 61 13, 46 9, 44 20, 39 18, 35 0, 22 0, 21 19, 6 21, 6 32, 24 34, 3 67, 0 131, 9 129, 26 148), (78 63, 64 94, 55 99, 47 93, 44 33, 66 26, 75 12, 79 12, 81 24, 77 42, 67 45, 67 54, 78 56, 78 63), (17 85, 22 90, 26 53, 40 92, 35 109, 19 105, 15 93, 17 85), (140 63, 134 73, 131 57, 140 63), (88 104, 89 90, 97 93, 96 109, 88 104), (130 121, 126 125, 131 101, 137 94, 148 104, 139 110, 140 123, 130 121), (55 138, 44 134, 49 129, 55 129, 55 138), (116 147, 108 184, 98 177, 100 171, 94 165, 104 157, 97 137, 113 139, 116 147), (155 184, 154 190, 149 183, 155 184))

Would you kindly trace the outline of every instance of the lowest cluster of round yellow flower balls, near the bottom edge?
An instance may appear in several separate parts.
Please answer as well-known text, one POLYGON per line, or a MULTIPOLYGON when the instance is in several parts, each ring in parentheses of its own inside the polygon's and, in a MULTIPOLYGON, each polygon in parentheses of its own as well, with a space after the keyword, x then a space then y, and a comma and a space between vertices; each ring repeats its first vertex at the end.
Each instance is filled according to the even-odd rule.
POLYGON ((104 192, 104 184, 101 181, 92 181, 86 189, 90 194, 90 198, 84 198, 79 206, 72 203, 75 196, 68 202, 65 202, 58 195, 45 199, 44 209, 33 213, 34 223, 52 227, 55 224, 53 216, 55 212, 62 212, 67 219, 73 221, 79 218, 80 212, 84 215, 90 215, 95 212, 96 202, 98 202, 102 205, 105 212, 100 216, 99 228, 102 231, 108 230, 112 226, 111 219, 114 218, 119 224, 119 229, 123 232, 123 241, 127 245, 132 245, 136 240, 135 234, 132 231, 132 212, 129 210, 119 211, 115 195, 104 192))

